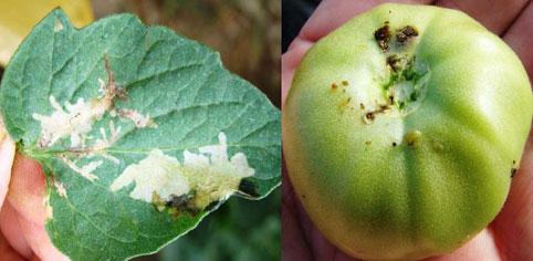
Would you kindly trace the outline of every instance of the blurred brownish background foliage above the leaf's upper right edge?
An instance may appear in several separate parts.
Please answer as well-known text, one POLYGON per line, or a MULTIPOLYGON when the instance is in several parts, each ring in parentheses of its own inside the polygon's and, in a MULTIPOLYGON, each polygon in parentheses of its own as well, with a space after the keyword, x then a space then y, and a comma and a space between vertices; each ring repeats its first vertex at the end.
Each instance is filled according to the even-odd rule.
POLYGON ((281 104, 281 1, 93 0, 95 17, 133 12, 220 52, 224 66, 281 104))

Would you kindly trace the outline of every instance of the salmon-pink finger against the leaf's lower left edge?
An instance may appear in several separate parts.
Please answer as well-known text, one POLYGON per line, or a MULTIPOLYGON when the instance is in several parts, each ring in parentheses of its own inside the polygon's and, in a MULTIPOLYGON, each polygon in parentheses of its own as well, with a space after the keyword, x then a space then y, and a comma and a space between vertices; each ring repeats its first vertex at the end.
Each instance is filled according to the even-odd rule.
POLYGON ((9 186, 8 200, 25 219, 44 226, 44 174, 33 159, 17 154, 9 186), (40 223, 39 223, 40 222, 40 223))

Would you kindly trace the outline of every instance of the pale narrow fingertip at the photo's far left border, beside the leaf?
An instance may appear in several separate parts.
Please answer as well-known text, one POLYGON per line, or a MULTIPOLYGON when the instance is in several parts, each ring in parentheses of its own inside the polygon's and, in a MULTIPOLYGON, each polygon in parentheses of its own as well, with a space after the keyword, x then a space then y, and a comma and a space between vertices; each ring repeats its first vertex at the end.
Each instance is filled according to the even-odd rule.
POLYGON ((3 133, 0 122, 0 206, 6 199, 9 181, 11 179, 11 167, 14 158, 14 144, 3 133))

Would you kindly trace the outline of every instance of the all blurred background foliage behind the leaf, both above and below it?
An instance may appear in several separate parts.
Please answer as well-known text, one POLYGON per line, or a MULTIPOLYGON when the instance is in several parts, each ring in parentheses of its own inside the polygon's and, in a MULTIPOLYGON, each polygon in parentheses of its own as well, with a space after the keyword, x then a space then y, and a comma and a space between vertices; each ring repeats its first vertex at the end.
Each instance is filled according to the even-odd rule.
MULTIPOLYGON (((136 13, 220 52, 224 66, 280 106, 281 1, 93 0, 95 17, 136 13)), ((280 260, 281 191, 249 201, 233 197, 186 236, 148 260, 280 260)))

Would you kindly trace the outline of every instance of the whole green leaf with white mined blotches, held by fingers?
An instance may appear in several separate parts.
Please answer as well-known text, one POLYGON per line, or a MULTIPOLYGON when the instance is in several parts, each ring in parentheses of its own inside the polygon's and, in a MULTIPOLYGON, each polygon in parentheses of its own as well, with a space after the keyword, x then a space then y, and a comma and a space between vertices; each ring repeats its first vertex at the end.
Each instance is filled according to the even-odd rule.
POLYGON ((46 173, 46 229, 73 260, 157 251, 230 195, 280 184, 280 113, 219 54, 129 14, 61 10, 12 58, 1 113, 46 173))

